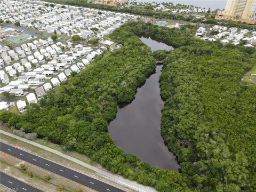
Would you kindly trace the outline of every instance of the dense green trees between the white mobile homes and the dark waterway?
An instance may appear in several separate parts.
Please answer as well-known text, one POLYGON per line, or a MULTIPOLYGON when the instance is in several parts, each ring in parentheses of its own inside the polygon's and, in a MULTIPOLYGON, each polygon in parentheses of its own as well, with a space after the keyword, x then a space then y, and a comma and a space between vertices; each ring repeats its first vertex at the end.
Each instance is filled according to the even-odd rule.
POLYGON ((150 48, 133 33, 117 31, 111 37, 117 42, 122 39, 123 46, 99 55, 86 69, 69 77, 58 92, 40 100, 41 108, 30 105, 21 115, 1 111, 1 121, 86 154, 107 170, 143 185, 162 191, 166 187, 186 190, 181 173, 150 167, 135 155, 124 154, 108 133, 117 103, 132 101, 137 87, 156 66, 150 48))

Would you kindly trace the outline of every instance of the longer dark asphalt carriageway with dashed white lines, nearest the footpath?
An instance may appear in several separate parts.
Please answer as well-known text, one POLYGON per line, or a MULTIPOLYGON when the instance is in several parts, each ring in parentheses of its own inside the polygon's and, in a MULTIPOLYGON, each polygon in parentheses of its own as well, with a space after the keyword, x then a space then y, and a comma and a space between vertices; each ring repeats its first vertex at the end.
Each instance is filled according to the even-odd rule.
POLYGON ((80 183, 81 185, 92 188, 94 190, 97 190, 100 192, 109 192, 109 191, 124 192, 124 190, 122 190, 122 189, 108 185, 105 182, 99 181, 97 179, 91 178, 91 177, 84 175, 82 173, 79 173, 77 171, 71 170, 65 166, 51 162, 45 158, 30 154, 24 150, 18 149, 16 147, 8 145, 4 142, 0 142, 0 150, 6 154, 10 154, 14 157, 22 159, 23 161, 34 164, 38 167, 42 167, 45 170, 59 174, 62 177, 73 180, 77 183, 80 183))

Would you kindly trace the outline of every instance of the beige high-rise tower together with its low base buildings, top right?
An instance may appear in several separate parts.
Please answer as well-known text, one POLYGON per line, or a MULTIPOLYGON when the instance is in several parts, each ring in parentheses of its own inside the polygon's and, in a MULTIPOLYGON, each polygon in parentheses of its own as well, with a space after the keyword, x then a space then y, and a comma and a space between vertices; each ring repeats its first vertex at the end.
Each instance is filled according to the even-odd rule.
POLYGON ((224 11, 218 11, 215 19, 231 19, 254 24, 256 0, 228 0, 224 11))

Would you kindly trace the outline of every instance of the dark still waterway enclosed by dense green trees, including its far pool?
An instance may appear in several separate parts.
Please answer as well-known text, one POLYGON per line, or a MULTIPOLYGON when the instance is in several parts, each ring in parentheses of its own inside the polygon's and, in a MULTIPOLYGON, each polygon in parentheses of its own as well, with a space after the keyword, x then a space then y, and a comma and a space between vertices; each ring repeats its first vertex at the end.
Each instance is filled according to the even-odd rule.
MULTIPOLYGON (((172 49, 150 38, 140 39, 151 51, 172 49)), ((135 154, 152 166, 177 171, 179 165, 175 156, 164 145, 161 136, 161 110, 164 106, 159 87, 161 73, 162 66, 156 66, 155 73, 137 89, 135 99, 124 108, 118 108, 108 130, 116 145, 125 153, 135 154)))

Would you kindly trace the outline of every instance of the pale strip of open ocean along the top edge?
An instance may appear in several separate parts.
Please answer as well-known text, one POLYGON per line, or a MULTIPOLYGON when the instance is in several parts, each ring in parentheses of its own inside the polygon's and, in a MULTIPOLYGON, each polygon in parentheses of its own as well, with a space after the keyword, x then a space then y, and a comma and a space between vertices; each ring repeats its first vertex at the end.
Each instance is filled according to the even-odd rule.
MULTIPOLYGON (((173 4, 185 4, 185 5, 194 5, 194 6, 198 6, 201 8, 205 8, 205 9, 211 9, 216 10, 216 9, 225 9, 227 0, 132 0, 132 2, 149 2, 149 3, 169 3, 169 2, 173 2, 173 4)), ((131 0, 130 0, 131 2, 131 0)))

